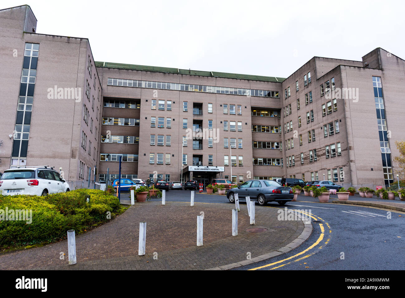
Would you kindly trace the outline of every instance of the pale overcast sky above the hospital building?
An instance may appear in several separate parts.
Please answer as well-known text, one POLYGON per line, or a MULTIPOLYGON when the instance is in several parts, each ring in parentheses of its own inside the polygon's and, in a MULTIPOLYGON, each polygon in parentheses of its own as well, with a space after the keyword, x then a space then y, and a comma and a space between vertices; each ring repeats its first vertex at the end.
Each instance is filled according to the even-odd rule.
POLYGON ((288 77, 313 56, 405 59, 404 1, 48 1, 37 33, 85 37, 96 61, 288 77))

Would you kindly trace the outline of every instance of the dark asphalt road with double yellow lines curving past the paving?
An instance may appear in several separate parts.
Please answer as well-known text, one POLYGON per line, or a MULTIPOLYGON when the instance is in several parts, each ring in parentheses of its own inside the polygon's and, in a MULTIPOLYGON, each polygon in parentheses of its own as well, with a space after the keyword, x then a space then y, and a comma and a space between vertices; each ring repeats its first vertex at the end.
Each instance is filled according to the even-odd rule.
MULTIPOLYGON (((166 202, 190 202, 190 197, 191 191, 166 192, 166 202)), ((230 204, 226 196, 197 192, 194 202, 230 204)), ((403 270, 405 267, 405 212, 319 203, 303 195, 298 196, 297 202, 284 206, 270 202, 267 207, 303 210, 313 225, 311 236, 288 253, 234 270, 403 270)), ((244 202, 241 208, 246 208, 244 202)), ((266 207, 256 205, 256 208, 266 207)))

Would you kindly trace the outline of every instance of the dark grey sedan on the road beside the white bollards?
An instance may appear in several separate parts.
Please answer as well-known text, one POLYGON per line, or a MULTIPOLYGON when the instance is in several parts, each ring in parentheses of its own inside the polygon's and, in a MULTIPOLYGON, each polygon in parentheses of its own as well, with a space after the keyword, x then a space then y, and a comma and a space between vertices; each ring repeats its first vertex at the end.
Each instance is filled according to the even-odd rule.
POLYGON ((246 181, 226 193, 229 202, 235 202, 235 193, 238 194, 240 200, 246 200, 246 196, 249 196, 251 200, 257 201, 261 206, 266 205, 267 202, 277 202, 284 205, 294 198, 291 187, 283 187, 273 180, 246 181))

